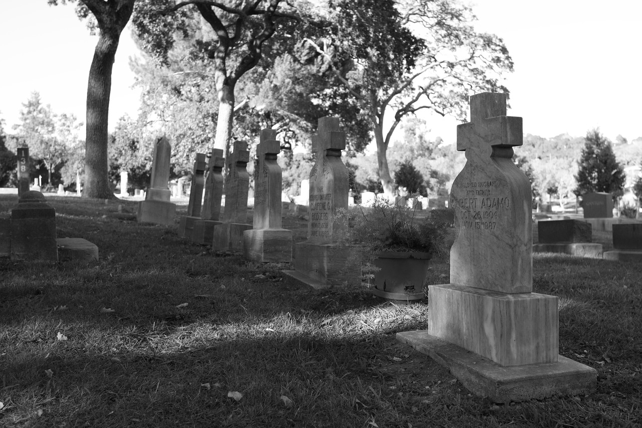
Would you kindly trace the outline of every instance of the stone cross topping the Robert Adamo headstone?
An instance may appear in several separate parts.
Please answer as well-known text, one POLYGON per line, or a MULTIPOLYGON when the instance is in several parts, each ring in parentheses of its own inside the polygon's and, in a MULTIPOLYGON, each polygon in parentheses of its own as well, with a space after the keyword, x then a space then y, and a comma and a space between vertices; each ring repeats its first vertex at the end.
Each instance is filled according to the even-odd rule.
MULTIPOLYGON (((523 143, 522 118, 506 116, 506 94, 471 96, 471 121, 457 126, 457 150, 473 150, 482 157, 512 157, 512 147, 523 143), (501 152, 501 148, 510 150, 501 152)), ((468 156, 467 156, 468 157, 468 156)))

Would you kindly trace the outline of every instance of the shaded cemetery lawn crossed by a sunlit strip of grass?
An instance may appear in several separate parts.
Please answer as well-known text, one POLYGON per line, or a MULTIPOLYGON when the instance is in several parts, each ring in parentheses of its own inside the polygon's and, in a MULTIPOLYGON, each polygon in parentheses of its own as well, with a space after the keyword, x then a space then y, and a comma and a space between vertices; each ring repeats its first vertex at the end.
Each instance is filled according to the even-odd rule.
MULTIPOLYGON (((312 290, 286 280, 286 265, 213 254, 175 227, 139 225, 133 202, 48 199, 58 236, 94 242, 101 260, 0 260, 0 426, 642 424, 635 263, 535 254, 534 290, 560 297, 560 354, 595 368, 597 391, 497 405, 395 341, 427 328, 425 300, 312 290)), ((0 215, 14 204, 0 196, 0 215)), ((284 227, 305 236, 301 218, 284 227)), ((429 281, 447 283, 448 273, 436 260, 429 281)))

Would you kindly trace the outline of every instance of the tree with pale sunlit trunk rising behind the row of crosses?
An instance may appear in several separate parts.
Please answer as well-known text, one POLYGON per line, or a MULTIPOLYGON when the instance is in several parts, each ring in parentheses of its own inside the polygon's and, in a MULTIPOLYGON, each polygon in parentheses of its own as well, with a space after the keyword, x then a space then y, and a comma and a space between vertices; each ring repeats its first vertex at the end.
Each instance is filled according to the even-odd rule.
POLYGON ((228 6, 213 1, 188 0, 173 4, 169 0, 139 1, 134 24, 138 37, 149 53, 167 64, 168 52, 175 42, 175 32, 187 35, 195 22, 207 22, 202 28, 193 55, 211 60, 212 77, 218 98, 218 118, 214 148, 229 152, 232 136, 235 88, 239 79, 256 66, 263 47, 278 30, 292 24, 295 10, 281 0, 257 0, 228 6), (263 7, 265 5, 265 7, 263 7), (193 6, 187 8, 187 6, 193 6))

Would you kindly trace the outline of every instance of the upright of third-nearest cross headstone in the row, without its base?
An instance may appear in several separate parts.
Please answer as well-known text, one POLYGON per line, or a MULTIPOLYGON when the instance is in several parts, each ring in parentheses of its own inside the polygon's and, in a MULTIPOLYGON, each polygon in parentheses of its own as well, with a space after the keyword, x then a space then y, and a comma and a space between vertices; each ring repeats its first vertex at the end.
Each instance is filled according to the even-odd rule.
POLYGON ((281 168, 277 155, 281 143, 277 131, 262 129, 256 145, 258 168, 254 191, 254 229, 281 227, 281 168))

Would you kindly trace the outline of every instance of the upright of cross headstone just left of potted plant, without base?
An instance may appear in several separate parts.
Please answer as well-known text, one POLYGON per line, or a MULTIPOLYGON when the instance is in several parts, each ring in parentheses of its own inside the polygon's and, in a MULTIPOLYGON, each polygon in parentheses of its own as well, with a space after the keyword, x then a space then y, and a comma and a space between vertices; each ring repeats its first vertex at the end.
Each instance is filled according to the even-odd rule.
POLYGON ((341 161, 345 132, 339 119, 325 117, 318 121, 318 133, 312 137, 312 152, 317 161, 310 172, 308 239, 332 242, 334 233, 345 225, 334 223, 337 208, 348 208, 348 170, 341 161))

